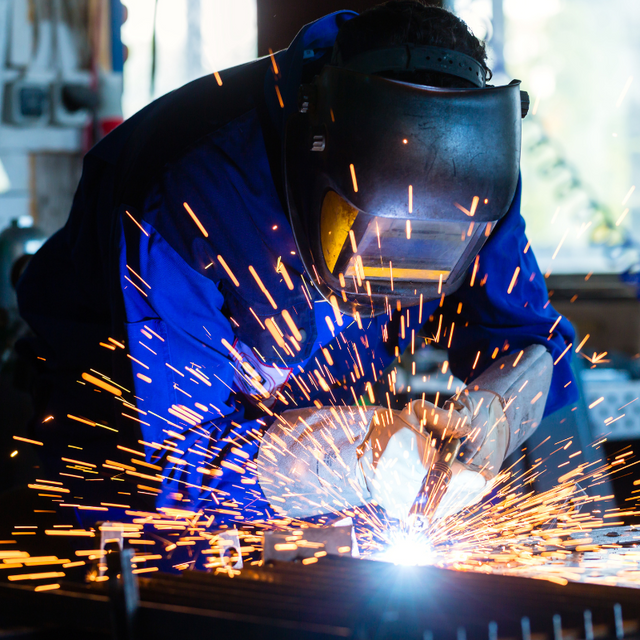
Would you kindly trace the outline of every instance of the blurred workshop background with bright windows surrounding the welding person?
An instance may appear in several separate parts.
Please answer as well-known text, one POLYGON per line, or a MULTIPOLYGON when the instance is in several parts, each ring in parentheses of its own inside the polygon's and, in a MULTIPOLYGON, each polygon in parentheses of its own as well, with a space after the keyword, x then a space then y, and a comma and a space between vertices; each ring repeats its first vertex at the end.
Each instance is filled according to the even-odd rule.
MULTIPOLYGON (((0 490, 39 464, 35 453, 18 454, 12 439, 26 433, 31 411, 12 350, 26 331, 12 283, 26 256, 66 222, 83 154, 168 91, 278 51, 303 24, 331 11, 374 4, 0 0, 0 490)), ((519 78, 531 96, 522 154, 527 233, 551 302, 580 341, 588 336, 574 356, 581 400, 543 423, 525 463, 571 438, 585 460, 613 459, 640 439, 640 4, 444 6, 487 43, 493 82, 519 78)), ((445 359, 432 348, 403 357, 400 400, 445 393, 445 359)), ((556 455, 553 464, 537 488, 556 483, 563 461, 556 455)), ((615 491, 624 506, 640 492, 631 473, 600 491, 615 491)))

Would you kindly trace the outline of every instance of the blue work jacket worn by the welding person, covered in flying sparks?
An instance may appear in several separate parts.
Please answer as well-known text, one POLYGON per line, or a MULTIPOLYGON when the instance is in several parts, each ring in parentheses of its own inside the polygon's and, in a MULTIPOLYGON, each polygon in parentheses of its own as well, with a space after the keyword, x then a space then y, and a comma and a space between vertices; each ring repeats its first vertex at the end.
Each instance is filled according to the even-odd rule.
MULTIPOLYGON (((69 221, 18 290, 37 336, 22 346, 39 367, 34 437, 51 473, 83 479, 86 502, 272 516, 254 459, 273 415, 362 402, 396 347, 419 346, 420 314, 465 382, 498 354, 543 344, 555 361, 573 341, 525 237, 520 185, 476 273, 403 309, 404 329, 339 320, 314 289, 286 213, 284 125, 353 15, 160 98, 87 154, 69 221)), ((569 361, 546 414, 576 398, 569 361)))

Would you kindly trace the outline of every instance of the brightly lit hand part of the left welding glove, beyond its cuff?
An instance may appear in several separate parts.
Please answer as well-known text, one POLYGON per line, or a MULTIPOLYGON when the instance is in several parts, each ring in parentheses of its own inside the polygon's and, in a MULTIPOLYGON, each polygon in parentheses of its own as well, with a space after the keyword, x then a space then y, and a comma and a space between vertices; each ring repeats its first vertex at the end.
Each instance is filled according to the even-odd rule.
POLYGON ((434 459, 432 444, 469 432, 464 417, 420 401, 402 411, 378 409, 358 448, 364 484, 375 500, 394 518, 405 519, 434 459), (422 422, 422 425, 421 425, 422 422), (426 424, 425 424, 426 422, 426 424))

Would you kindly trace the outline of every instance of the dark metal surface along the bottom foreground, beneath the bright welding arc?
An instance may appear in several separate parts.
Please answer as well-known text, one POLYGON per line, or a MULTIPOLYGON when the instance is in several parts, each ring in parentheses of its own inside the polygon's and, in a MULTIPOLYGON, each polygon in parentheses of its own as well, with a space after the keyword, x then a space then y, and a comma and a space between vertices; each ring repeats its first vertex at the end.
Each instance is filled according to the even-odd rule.
MULTIPOLYGON (((559 585, 332 555, 312 564, 275 561, 245 567, 232 576, 224 571, 147 574, 139 577, 139 588, 140 640, 210 635, 279 640, 640 637, 637 589, 559 585)), ((30 620, 31 627, 56 629, 58 637, 110 638, 108 593, 108 582, 63 582, 60 589, 42 593, 0 584, 2 622, 30 620)))

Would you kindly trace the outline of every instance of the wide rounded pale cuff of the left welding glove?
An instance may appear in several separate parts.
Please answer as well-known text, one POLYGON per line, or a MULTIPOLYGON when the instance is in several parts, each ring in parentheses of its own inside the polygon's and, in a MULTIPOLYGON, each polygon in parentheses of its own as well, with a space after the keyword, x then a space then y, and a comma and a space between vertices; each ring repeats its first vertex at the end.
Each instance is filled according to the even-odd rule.
POLYGON ((357 449, 375 409, 285 411, 265 433, 258 482, 272 508, 295 518, 339 511, 370 499, 357 474, 357 449))

